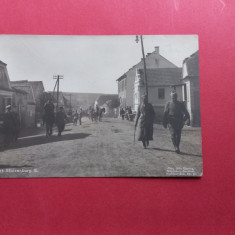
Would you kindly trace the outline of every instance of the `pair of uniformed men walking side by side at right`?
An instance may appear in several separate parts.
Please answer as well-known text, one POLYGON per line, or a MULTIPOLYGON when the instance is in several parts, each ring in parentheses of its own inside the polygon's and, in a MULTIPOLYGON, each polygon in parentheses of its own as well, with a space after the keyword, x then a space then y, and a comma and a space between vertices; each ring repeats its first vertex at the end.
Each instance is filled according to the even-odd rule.
MULTIPOLYGON (((154 116, 153 106, 148 103, 147 96, 144 95, 142 103, 138 107, 135 121, 135 130, 138 126, 138 141, 142 141, 144 148, 147 148, 149 141, 153 140, 154 116)), ((189 113, 184 103, 177 100, 177 93, 172 92, 171 101, 165 106, 163 126, 164 128, 169 128, 176 153, 180 153, 181 131, 184 124, 190 125, 189 113)))

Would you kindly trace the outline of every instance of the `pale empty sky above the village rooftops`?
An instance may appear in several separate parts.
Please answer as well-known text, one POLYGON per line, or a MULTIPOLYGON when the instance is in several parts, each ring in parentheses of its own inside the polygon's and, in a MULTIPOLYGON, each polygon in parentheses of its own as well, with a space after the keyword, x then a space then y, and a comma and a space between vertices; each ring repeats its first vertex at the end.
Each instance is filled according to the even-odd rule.
MULTIPOLYGON (((145 54, 159 46, 160 54, 178 67, 198 50, 197 35, 144 35, 145 54)), ((55 86, 63 75, 64 92, 117 94, 116 80, 142 58, 135 35, 42 36, 0 35, 0 60, 11 81, 43 81, 55 86)))

